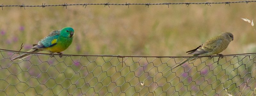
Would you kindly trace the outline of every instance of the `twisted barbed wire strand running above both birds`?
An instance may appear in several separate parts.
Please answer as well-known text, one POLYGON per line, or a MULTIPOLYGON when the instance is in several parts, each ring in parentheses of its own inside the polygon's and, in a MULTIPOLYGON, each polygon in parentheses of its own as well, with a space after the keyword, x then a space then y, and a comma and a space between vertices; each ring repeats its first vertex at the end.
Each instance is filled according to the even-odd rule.
POLYGON ((111 3, 99 3, 99 4, 92 4, 92 3, 84 3, 84 4, 68 4, 68 3, 64 3, 64 4, 57 4, 57 5, 45 5, 45 3, 42 3, 42 5, 25 5, 24 3, 22 3, 21 5, 0 5, 0 7, 2 7, 2 10, 3 10, 3 7, 20 7, 20 8, 24 8, 25 7, 49 7, 49 6, 63 6, 67 8, 67 6, 76 6, 76 5, 83 5, 83 7, 87 5, 104 5, 104 6, 108 6, 110 7, 109 5, 125 5, 125 6, 128 6, 129 8, 129 5, 145 5, 145 6, 149 6, 149 5, 168 5, 168 8, 169 8, 169 5, 178 5, 178 4, 185 4, 186 6, 190 5, 190 4, 204 4, 204 5, 210 5, 211 4, 228 4, 230 6, 230 4, 234 4, 234 3, 251 3, 251 2, 256 2, 256 1, 236 1, 236 2, 201 2, 201 3, 124 3, 124 4, 111 4, 111 3))

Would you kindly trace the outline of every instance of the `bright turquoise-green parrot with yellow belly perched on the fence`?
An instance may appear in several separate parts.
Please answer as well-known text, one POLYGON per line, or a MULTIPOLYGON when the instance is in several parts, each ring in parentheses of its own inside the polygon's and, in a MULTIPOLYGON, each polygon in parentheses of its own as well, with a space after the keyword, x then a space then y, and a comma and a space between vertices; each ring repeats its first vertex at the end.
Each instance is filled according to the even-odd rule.
MULTIPOLYGON (((74 29, 71 27, 65 27, 61 30, 56 30, 51 32, 48 36, 44 37, 41 41, 39 41, 37 44, 33 44, 32 49, 30 49, 27 52, 33 52, 37 53, 40 51, 47 51, 50 52, 53 57, 53 53, 59 53, 60 57, 62 57, 61 51, 64 51, 68 48, 68 46, 72 43, 74 35, 74 29)), ((17 56, 11 60, 17 60, 22 59, 30 54, 21 54, 20 56, 17 56)))

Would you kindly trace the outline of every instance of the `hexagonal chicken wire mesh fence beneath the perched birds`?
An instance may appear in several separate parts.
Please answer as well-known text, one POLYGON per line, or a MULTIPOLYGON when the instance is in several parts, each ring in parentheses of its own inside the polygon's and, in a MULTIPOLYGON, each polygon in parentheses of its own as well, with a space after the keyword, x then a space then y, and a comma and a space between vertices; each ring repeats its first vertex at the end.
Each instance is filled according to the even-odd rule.
POLYGON ((201 57, 79 56, 0 50, 0 95, 255 95, 256 54, 201 57))

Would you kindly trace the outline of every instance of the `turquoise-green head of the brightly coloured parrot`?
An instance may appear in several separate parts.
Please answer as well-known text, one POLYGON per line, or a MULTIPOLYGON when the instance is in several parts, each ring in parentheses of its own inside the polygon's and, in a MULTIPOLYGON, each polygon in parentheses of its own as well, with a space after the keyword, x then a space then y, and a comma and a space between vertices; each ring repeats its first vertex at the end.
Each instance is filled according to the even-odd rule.
POLYGON ((73 38, 74 35, 74 29, 71 27, 64 27, 60 30, 60 36, 66 37, 66 38, 73 38))

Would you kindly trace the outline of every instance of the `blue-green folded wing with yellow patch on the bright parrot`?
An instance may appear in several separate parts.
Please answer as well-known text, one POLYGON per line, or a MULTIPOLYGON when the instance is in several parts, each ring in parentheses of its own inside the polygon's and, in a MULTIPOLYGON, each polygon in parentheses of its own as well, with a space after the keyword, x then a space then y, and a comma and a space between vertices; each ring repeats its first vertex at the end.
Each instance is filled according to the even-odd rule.
POLYGON ((59 38, 60 31, 53 31, 48 36, 44 37, 41 41, 39 41, 35 46, 32 48, 46 48, 52 47, 56 45, 57 39, 59 38))

